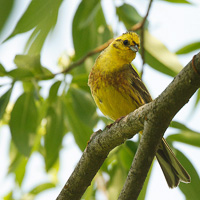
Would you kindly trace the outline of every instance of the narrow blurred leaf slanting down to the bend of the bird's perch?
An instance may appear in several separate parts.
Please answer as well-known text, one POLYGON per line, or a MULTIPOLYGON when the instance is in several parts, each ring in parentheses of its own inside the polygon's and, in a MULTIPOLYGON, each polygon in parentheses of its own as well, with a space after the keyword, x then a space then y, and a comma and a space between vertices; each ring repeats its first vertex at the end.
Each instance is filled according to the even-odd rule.
POLYGON ((67 93, 63 101, 65 102, 64 110, 66 113, 65 119, 67 127, 73 133, 77 145, 83 151, 93 133, 93 130, 79 118, 80 115, 73 108, 74 103, 70 91, 67 93))

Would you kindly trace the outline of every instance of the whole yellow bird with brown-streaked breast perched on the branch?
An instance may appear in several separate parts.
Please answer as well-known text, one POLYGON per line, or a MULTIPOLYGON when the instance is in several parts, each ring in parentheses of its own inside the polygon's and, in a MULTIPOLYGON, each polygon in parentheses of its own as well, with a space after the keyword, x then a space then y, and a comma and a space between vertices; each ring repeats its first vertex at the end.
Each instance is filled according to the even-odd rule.
MULTIPOLYGON (((133 69, 131 62, 140 47, 139 36, 127 32, 116 38, 98 56, 90 72, 88 85, 101 112, 112 120, 126 116, 152 98, 133 69)), ((169 145, 162 139, 156 158, 168 186, 190 182, 190 176, 180 164, 169 145)))

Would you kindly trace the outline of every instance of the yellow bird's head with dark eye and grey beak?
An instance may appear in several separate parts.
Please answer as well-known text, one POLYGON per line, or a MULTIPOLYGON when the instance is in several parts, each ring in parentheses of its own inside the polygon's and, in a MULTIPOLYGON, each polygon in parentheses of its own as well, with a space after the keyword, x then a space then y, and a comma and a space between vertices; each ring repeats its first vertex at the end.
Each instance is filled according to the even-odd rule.
POLYGON ((127 32, 117 37, 110 46, 119 58, 130 63, 140 48, 140 38, 135 32, 127 32))

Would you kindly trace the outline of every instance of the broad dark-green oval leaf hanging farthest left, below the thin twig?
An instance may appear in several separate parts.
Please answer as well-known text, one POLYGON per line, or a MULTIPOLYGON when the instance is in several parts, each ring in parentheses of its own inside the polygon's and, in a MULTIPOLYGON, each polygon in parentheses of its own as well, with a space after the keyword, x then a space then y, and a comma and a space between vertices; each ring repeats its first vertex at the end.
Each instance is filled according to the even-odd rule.
POLYGON ((16 147, 25 156, 29 156, 34 143, 37 117, 33 92, 23 93, 11 112, 10 130, 16 147))

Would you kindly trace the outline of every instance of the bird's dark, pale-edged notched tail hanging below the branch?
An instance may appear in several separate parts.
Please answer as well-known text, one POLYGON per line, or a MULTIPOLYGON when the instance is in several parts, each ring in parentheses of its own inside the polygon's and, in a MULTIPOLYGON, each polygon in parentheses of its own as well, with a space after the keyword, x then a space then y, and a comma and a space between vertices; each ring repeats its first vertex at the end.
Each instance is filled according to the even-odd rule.
POLYGON ((178 161, 164 138, 162 138, 156 158, 170 188, 178 186, 180 181, 190 183, 190 175, 178 161))

